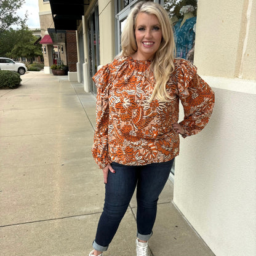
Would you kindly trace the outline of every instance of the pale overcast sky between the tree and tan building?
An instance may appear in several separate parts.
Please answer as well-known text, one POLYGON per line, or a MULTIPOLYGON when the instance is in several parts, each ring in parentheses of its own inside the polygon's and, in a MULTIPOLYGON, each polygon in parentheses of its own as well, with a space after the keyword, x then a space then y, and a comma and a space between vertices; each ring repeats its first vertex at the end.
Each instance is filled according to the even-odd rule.
POLYGON ((17 10, 17 15, 23 18, 26 10, 28 11, 26 22, 28 28, 40 28, 38 0, 25 0, 22 8, 17 10))

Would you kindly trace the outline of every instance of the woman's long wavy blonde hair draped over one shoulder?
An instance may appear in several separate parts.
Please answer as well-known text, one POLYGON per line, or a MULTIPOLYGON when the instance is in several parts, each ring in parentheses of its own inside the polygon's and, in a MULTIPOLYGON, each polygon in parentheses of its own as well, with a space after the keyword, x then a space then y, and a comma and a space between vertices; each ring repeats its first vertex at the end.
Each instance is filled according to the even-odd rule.
POLYGON ((166 92, 166 83, 170 78, 170 74, 174 71, 175 42, 170 19, 166 10, 164 10, 160 4, 142 1, 134 6, 127 17, 126 25, 122 31, 122 52, 119 55, 127 57, 137 52, 138 48, 135 39, 135 28, 137 16, 140 12, 156 15, 162 31, 161 44, 156 51, 154 60, 150 66, 155 81, 150 102, 155 98, 161 102, 167 102, 169 100, 169 95, 166 92))

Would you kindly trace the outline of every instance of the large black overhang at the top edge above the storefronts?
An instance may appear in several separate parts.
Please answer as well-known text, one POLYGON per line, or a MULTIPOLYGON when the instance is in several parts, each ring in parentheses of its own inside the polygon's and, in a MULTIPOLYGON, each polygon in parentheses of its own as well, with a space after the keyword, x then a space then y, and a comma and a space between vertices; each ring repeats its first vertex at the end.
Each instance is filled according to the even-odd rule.
POLYGON ((77 30, 78 20, 82 20, 84 6, 89 0, 50 0, 52 17, 56 30, 77 30))

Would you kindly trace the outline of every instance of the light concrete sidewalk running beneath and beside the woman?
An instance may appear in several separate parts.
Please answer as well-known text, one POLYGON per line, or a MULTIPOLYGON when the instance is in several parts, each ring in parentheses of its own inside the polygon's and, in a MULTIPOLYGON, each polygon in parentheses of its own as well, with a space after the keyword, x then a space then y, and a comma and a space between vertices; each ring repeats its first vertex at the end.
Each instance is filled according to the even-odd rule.
MULTIPOLYGON (((102 212, 104 184, 90 148, 95 97, 66 76, 27 72, 0 90, 0 255, 86 256, 102 212)), ((172 204, 159 198, 154 256, 212 256, 172 204)), ((136 202, 104 255, 134 256, 136 202)))

